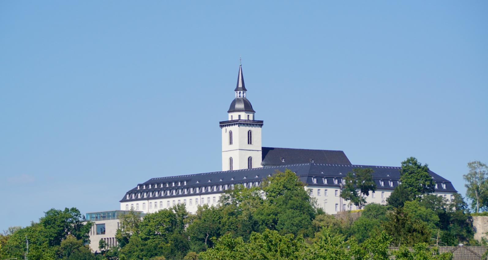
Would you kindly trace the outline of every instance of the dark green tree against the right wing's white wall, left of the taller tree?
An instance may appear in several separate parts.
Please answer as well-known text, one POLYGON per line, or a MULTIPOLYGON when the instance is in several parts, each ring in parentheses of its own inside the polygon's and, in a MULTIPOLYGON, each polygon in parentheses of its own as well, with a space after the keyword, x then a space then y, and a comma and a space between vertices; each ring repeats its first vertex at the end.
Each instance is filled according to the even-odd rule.
POLYGON ((355 168, 349 171, 344 178, 346 185, 341 192, 341 197, 356 206, 366 204, 365 196, 369 196, 370 191, 374 192, 376 190, 373 173, 374 170, 372 168, 355 168))

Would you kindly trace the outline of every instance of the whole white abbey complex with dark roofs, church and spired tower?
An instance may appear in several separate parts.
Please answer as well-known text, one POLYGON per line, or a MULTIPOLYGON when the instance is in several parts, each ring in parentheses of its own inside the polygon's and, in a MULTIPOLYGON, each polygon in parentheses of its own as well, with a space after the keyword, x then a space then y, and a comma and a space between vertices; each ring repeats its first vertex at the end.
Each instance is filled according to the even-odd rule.
MULTIPOLYGON (((219 122, 222 130, 222 171, 152 178, 127 191, 120 201, 121 210, 131 208, 144 213, 185 204, 195 213, 198 205, 217 205, 220 195, 235 185, 259 186, 276 170, 294 171, 317 207, 329 214, 357 209, 340 197, 347 172, 371 167, 377 190, 366 198, 368 203, 386 204, 386 198, 399 185, 400 167, 353 165, 343 151, 263 147, 261 129, 251 102, 246 98, 242 66, 239 66, 234 100, 227 120, 219 122)), ((457 191, 451 182, 429 171, 435 181, 435 194, 447 200, 457 191)))

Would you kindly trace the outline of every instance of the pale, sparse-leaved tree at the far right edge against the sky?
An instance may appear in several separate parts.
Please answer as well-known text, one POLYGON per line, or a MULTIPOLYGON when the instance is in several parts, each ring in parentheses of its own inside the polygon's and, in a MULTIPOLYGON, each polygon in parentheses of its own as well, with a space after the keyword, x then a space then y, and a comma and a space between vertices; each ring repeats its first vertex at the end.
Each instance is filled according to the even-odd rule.
POLYGON ((466 197, 471 199, 471 207, 476 213, 480 208, 487 209, 488 207, 488 167, 486 164, 474 161, 468 163, 469 172, 463 175, 467 182, 466 197))

